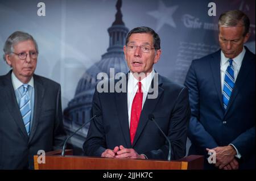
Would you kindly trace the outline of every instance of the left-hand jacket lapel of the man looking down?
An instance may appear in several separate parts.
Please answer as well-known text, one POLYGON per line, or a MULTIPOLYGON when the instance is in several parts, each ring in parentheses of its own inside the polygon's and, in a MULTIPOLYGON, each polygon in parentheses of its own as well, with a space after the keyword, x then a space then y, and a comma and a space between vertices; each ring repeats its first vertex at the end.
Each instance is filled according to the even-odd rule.
POLYGON ((223 100, 222 100, 222 92, 221 92, 221 73, 220 73, 220 62, 221 62, 221 56, 220 56, 220 50, 213 54, 212 60, 210 60, 210 67, 212 69, 212 75, 213 75, 213 82, 214 87, 216 89, 218 99, 220 100, 220 104, 222 107, 222 110, 224 111, 223 107, 223 100))

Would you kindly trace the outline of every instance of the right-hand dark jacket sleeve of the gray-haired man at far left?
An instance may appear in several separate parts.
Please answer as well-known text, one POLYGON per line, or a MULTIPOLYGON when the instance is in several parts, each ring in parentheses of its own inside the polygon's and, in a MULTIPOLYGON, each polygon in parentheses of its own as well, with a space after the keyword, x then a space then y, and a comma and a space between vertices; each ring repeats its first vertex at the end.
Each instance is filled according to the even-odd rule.
POLYGON ((61 91, 60 85, 57 89, 57 96, 56 96, 56 115, 55 115, 55 123, 54 123, 54 144, 53 149, 62 149, 63 142, 66 138, 66 134, 64 131, 63 126, 63 116, 62 116, 62 109, 61 109, 61 91))

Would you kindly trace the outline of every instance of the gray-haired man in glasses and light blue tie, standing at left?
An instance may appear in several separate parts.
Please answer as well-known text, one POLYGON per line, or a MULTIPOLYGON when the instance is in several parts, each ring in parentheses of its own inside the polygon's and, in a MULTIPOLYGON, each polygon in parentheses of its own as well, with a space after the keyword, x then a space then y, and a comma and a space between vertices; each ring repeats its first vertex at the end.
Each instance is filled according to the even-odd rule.
POLYGON ((33 169, 38 150, 65 139, 60 85, 34 74, 38 46, 28 33, 11 34, 3 50, 13 69, 0 76, 0 169, 33 169))

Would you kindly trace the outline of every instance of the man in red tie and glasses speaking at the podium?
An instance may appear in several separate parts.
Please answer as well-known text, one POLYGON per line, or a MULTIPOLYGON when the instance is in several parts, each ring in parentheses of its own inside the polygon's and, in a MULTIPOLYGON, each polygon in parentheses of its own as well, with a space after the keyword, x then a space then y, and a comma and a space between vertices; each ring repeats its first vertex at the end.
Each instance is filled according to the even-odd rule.
POLYGON ((159 61, 160 38, 148 27, 131 30, 123 47, 130 73, 123 92, 95 90, 92 115, 101 112, 91 123, 84 143, 86 155, 108 158, 167 159, 168 142, 153 121, 171 141, 171 159, 185 155, 190 117, 188 90, 155 73, 159 61), (157 79, 158 77, 158 79, 157 79), (156 80, 156 85, 154 85, 156 80), (155 86, 155 98, 150 86, 155 86))

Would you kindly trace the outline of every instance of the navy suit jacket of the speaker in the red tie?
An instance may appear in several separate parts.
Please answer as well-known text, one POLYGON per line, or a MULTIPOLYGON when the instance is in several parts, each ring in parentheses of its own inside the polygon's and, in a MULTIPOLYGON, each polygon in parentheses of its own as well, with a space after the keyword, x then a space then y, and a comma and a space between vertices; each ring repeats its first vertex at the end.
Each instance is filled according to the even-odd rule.
POLYGON ((115 146, 123 145, 135 149, 138 154, 145 154, 148 159, 167 159, 168 142, 155 123, 148 120, 148 115, 152 113, 171 141, 171 158, 184 157, 191 112, 188 90, 160 75, 158 77, 158 97, 146 99, 133 145, 129 132, 127 89, 120 93, 99 93, 95 90, 92 113, 100 111, 102 116, 90 123, 84 143, 86 155, 101 156, 105 149, 113 150, 115 146))

